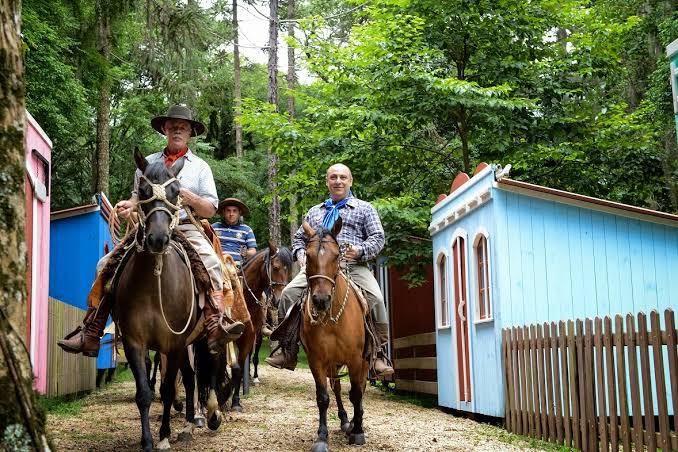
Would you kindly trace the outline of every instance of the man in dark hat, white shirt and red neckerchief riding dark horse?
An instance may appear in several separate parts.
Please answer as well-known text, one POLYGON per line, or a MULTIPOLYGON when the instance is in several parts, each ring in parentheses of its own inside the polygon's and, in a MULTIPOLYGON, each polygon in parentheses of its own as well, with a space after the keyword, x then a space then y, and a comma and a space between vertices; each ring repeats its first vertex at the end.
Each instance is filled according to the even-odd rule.
MULTIPOLYGON (((204 124, 193 119, 193 114, 188 107, 174 105, 170 107, 166 115, 151 119, 151 126, 167 137, 167 146, 162 152, 149 155, 146 160, 149 163, 163 161, 168 168, 171 168, 175 162, 183 158, 183 168, 177 175, 177 179, 181 183, 182 206, 184 208, 190 207, 198 217, 209 218, 214 215, 218 198, 212 170, 203 159, 193 154, 188 148, 190 138, 201 135, 205 131, 204 124)), ((115 205, 118 214, 123 218, 129 218, 137 208, 137 189, 140 177, 141 171, 137 170, 131 198, 120 201, 115 205)), ((232 321, 224 313, 224 280, 221 262, 202 231, 188 220, 184 210, 180 213, 180 223, 177 229, 193 245, 210 275, 212 292, 209 300, 204 303, 203 315, 205 317, 208 346, 210 351, 216 353, 225 342, 242 334, 244 325, 241 322, 232 321)), ((97 270, 103 269, 111 254, 109 253, 99 261, 97 270)), ((97 279, 93 289, 100 284, 103 284, 103 282, 97 279)), ((95 290, 90 292, 88 301, 95 296, 94 293, 95 290)), ((90 305, 87 314, 85 314, 83 327, 58 342, 59 346, 65 351, 83 353, 86 356, 97 356, 99 338, 103 334, 106 319, 112 309, 112 300, 111 297, 104 296, 96 301, 98 301, 98 307, 90 305)))

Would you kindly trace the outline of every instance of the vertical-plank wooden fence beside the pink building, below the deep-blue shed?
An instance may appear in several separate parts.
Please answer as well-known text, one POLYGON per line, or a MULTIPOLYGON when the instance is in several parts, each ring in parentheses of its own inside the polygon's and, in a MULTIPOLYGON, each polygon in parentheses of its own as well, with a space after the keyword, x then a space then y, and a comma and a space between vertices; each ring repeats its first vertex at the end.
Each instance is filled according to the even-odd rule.
POLYGON ((66 353, 57 341, 80 325, 82 309, 49 298, 47 394, 50 397, 90 391, 96 386, 96 359, 66 353))

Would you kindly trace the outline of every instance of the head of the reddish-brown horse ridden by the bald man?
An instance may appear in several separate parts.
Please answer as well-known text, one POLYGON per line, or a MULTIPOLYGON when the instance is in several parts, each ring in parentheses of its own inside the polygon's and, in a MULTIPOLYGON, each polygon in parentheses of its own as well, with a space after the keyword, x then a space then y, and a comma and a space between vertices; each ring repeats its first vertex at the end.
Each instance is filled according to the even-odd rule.
POLYGON ((313 230, 304 222, 304 232, 309 237, 306 243, 306 278, 313 306, 317 312, 327 311, 332 305, 336 278, 339 274, 341 251, 337 235, 341 231, 341 217, 332 230, 320 227, 313 230))

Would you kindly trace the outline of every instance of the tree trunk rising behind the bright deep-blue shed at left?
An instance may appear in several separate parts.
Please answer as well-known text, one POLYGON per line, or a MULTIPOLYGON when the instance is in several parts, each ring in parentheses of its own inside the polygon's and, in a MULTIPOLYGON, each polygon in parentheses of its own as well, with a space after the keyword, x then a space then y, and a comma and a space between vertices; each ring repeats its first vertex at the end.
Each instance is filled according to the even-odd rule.
POLYGON ((111 57, 111 24, 106 8, 106 0, 96 0, 95 13, 97 21, 97 50, 104 61, 104 74, 99 86, 99 107, 97 108, 97 159, 95 170, 97 193, 108 196, 109 181, 109 144, 111 138, 111 77, 109 61, 111 57))

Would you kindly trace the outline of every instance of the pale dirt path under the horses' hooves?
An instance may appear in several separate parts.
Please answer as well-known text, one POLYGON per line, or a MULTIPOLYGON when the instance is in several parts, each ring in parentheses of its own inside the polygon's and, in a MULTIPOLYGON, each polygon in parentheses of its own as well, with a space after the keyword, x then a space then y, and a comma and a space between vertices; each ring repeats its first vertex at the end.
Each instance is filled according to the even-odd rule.
MULTIPOLYGON (((172 418, 172 449, 179 451, 310 450, 317 429, 313 378, 307 369, 260 370, 262 384, 243 400, 245 412, 228 412, 216 432, 196 430, 192 443, 176 441, 183 417, 172 418)), ((347 388, 344 388, 346 391, 347 388)), ((344 392, 345 392, 344 391, 344 392)), ((156 395, 156 400, 158 396, 156 395)), ((350 407, 345 398, 347 410, 350 407)), ((424 408, 368 386, 365 406, 367 444, 363 451, 525 450, 527 443, 498 427, 457 418, 436 408, 424 408)), ((151 406, 151 430, 157 443, 161 412, 151 406)), ((349 417, 352 409, 349 411, 349 417)), ((339 429, 334 399, 328 411, 332 450, 348 446, 339 429)), ((138 450, 139 412, 134 383, 113 383, 82 401, 77 415, 49 415, 48 426, 58 450, 138 450)))

